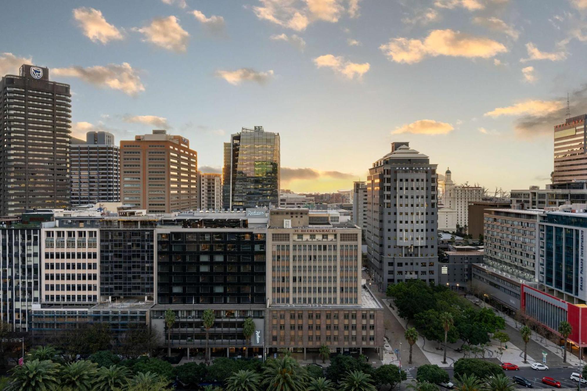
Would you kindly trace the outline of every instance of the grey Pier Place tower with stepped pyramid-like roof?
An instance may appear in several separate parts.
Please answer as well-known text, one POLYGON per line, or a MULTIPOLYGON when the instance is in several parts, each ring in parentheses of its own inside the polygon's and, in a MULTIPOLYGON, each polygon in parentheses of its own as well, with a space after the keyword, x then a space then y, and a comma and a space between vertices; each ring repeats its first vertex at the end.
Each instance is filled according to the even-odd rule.
POLYGON ((419 278, 437 282, 437 164, 392 143, 367 177, 367 258, 373 278, 387 284, 419 278))

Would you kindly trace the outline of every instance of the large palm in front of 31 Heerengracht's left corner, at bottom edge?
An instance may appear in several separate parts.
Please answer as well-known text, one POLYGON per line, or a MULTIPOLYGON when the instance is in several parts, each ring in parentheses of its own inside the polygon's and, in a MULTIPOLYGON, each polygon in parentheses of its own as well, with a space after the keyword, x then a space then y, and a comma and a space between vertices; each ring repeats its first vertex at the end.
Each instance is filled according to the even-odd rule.
POLYGON ((306 371, 295 359, 286 355, 267 361, 262 384, 267 387, 266 391, 304 391, 307 381, 306 371))

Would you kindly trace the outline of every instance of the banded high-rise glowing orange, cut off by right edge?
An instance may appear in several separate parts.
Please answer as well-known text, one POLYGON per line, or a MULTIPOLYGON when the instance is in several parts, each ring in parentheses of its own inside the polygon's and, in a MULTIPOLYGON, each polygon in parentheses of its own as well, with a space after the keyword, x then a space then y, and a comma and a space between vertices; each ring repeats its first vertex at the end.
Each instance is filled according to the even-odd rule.
POLYGON ((587 180, 587 114, 554 127, 554 183, 587 180))

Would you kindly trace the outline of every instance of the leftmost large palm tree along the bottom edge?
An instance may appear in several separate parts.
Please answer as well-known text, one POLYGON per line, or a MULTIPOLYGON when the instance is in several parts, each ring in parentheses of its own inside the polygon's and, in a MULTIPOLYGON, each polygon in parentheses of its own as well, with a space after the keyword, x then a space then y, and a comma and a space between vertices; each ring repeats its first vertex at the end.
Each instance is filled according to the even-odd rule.
POLYGON ((10 370, 10 383, 6 390, 55 391, 59 387, 59 364, 51 360, 27 361, 10 370))

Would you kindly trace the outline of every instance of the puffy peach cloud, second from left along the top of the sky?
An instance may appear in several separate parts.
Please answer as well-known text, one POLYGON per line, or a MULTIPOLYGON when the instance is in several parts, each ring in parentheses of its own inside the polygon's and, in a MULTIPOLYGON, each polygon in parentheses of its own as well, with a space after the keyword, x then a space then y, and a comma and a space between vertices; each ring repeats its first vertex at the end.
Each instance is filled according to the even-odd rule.
POLYGON ((178 53, 185 52, 190 38, 190 34, 181 28, 179 19, 173 15, 167 18, 154 18, 149 26, 134 28, 133 31, 143 33, 143 41, 178 53))

